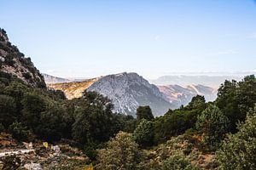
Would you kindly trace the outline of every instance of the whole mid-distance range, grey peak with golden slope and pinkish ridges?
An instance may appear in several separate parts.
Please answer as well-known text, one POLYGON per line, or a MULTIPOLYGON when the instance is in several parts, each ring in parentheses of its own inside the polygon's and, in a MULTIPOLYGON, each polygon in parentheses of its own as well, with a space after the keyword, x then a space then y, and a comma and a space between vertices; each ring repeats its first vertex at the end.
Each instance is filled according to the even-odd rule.
MULTIPOLYGON (((47 79, 47 77, 44 77, 47 79)), ((50 77, 62 81, 61 78, 50 77)), ((70 80, 68 80, 70 81, 70 80)), ((84 90, 96 91, 112 99, 114 111, 135 116, 139 105, 149 105, 154 116, 160 116, 169 109, 187 105, 197 94, 209 100, 216 99, 216 90, 202 85, 155 86, 137 73, 120 73, 96 77, 83 82, 61 82, 48 84, 49 88, 62 90, 68 99, 81 97, 84 90)))

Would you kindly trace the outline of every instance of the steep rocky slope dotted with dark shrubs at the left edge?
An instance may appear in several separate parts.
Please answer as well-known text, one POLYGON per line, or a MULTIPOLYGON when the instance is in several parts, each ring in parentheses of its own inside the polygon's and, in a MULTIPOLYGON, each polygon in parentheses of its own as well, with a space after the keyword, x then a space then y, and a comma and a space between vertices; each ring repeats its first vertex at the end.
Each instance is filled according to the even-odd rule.
POLYGON ((32 87, 46 88, 44 77, 19 49, 9 42, 6 31, 0 28, 0 72, 18 78, 32 87))

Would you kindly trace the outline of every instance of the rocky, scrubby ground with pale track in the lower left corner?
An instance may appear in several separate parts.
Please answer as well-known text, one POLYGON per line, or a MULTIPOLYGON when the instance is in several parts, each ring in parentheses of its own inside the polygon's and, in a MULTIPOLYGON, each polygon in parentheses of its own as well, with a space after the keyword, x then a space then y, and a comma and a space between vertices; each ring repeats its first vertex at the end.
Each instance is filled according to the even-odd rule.
MULTIPOLYGON (((15 155, 20 163, 18 169, 90 169, 90 159, 69 144, 48 144, 43 141, 18 143, 9 134, 0 135, 0 169, 9 157, 15 155)), ((10 162, 10 161, 9 161, 10 162)))

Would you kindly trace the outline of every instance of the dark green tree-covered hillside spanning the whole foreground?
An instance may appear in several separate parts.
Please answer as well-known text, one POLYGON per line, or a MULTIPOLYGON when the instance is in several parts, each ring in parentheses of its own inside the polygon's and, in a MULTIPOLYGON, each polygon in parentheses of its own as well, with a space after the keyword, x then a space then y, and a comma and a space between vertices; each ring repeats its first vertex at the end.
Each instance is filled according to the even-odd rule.
MULTIPOLYGON (((31 77, 37 75, 35 72, 31 77)), ((60 90, 45 88, 44 79, 33 80, 18 77, 14 71, 1 71, 0 153, 25 147, 21 142, 41 144, 34 146, 39 149, 32 154, 37 157, 34 163, 44 169, 256 168, 253 75, 241 82, 225 81, 213 102, 207 103, 198 95, 189 105, 158 117, 153 116, 149 106, 139 106, 137 118, 114 113, 111 100, 96 92, 84 92, 80 98, 67 100, 60 90), (8 135, 15 144, 3 143, 8 135), (48 144, 66 147, 53 155, 49 154, 48 144)), ((22 154, 0 159, 3 169, 18 169, 32 161, 22 154)))

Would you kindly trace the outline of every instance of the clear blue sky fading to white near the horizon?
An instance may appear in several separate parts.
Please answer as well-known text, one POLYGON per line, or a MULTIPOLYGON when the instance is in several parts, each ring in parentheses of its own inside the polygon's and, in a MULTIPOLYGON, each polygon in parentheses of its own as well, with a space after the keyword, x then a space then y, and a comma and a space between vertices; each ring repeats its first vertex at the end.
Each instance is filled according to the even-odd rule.
POLYGON ((253 0, 0 0, 0 27, 57 77, 256 71, 253 0))

